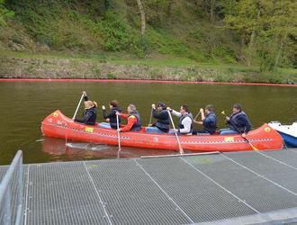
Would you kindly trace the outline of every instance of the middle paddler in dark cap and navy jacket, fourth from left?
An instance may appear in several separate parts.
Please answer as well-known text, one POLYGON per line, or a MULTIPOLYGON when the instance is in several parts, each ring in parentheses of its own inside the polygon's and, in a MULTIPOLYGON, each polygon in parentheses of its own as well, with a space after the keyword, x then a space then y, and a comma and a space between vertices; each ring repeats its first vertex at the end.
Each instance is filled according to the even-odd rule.
POLYGON ((165 103, 153 103, 151 105, 152 116, 157 119, 157 121, 151 126, 146 128, 147 133, 167 133, 170 128, 170 118, 168 112, 166 111, 165 103))

